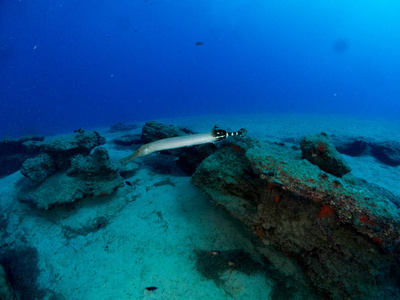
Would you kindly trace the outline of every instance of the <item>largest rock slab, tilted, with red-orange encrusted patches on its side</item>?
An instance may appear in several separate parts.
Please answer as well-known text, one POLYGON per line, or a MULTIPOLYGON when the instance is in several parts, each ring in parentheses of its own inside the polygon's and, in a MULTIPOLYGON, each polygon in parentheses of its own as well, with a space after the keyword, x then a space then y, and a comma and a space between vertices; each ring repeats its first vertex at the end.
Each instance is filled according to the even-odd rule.
POLYGON ((400 212, 385 195, 351 185, 272 143, 225 143, 192 182, 292 257, 325 298, 395 298, 400 212))

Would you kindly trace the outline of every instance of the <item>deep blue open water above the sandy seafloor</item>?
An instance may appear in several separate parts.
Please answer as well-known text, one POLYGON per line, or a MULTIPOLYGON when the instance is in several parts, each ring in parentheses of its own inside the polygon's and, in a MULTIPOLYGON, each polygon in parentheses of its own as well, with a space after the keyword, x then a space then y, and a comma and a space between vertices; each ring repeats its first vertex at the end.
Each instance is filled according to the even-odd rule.
POLYGON ((1 0, 0 135, 219 113, 396 118, 399 16, 396 0, 1 0))

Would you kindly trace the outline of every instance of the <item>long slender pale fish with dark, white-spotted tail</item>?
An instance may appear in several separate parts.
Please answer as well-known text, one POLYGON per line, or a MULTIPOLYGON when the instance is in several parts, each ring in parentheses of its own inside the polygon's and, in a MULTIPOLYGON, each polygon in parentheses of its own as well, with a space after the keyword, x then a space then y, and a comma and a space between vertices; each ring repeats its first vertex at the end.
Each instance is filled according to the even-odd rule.
POLYGON ((152 143, 144 144, 139 149, 137 149, 133 154, 121 159, 121 163, 126 164, 138 157, 147 156, 157 151, 215 143, 222 141, 227 137, 235 135, 244 137, 247 135, 247 130, 242 128, 238 131, 228 132, 226 130, 217 128, 217 126, 214 126, 211 132, 196 133, 184 136, 177 136, 173 138, 161 139, 152 143))

